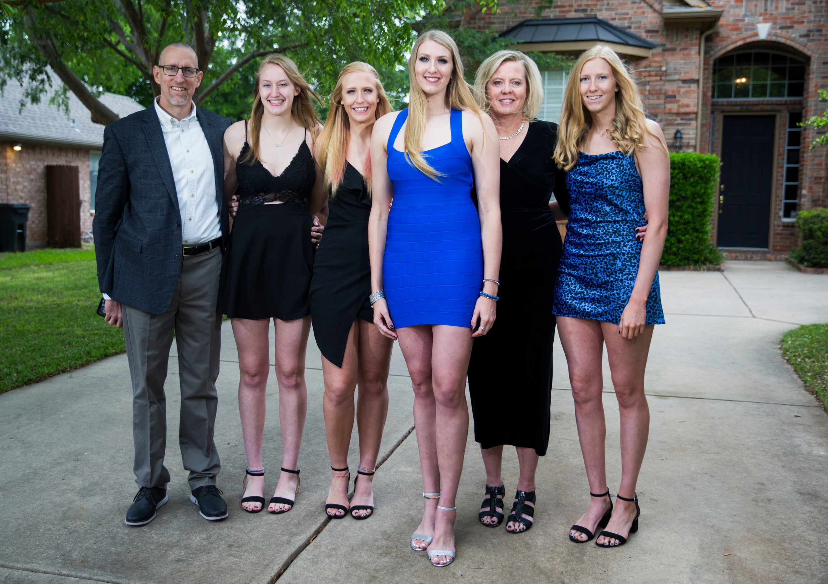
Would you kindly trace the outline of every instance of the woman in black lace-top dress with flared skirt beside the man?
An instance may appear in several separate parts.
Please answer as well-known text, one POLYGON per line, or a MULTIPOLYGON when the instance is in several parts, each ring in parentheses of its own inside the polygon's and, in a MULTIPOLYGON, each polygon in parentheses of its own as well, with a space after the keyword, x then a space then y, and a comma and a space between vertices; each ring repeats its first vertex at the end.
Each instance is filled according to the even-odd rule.
POLYGON ((320 129, 311 96, 319 100, 292 60, 268 55, 258 70, 249 123, 234 123, 224 133, 224 192, 236 194, 238 211, 224 253, 219 309, 232 319, 238 347, 238 411, 248 463, 242 509, 248 513, 265 506, 262 437, 271 319, 282 471, 267 511, 289 511, 299 490, 313 268, 310 211, 325 202, 311 154, 320 129))

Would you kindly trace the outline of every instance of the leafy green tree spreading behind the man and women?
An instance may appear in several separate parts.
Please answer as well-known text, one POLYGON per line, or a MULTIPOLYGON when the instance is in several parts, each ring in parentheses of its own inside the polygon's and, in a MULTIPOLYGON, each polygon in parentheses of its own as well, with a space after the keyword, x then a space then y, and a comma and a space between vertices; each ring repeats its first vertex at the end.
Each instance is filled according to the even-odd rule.
MULTIPOLYGON (((500 0, 516 2, 517 0, 500 0)), ((364 60, 379 71, 395 107, 407 96, 405 67, 417 31, 442 28, 458 41, 469 80, 486 56, 513 41, 462 27, 458 14, 496 11, 498 0, 0 0, 0 90, 14 79, 36 103, 62 81, 54 102, 71 91, 97 123, 118 115, 103 91, 148 105, 159 92, 152 65, 167 44, 184 40, 205 71, 195 103, 231 119, 249 113, 258 58, 283 52, 320 94, 342 66, 364 60)), ((551 5, 545 0, 540 7, 551 5)), ((542 69, 571 62, 532 55, 542 69)), ((23 104, 21 104, 21 107, 23 104)), ((326 108, 324 109, 326 111, 326 108)), ((324 113, 320 109, 320 113, 324 113)))

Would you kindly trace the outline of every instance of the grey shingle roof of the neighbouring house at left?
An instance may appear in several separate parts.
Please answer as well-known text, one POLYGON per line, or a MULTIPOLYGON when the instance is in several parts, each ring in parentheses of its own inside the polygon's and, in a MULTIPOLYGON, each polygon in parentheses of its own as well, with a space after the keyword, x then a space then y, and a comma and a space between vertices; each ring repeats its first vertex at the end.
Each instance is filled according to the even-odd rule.
MULTIPOLYGON (((91 113, 72 92, 69 93, 69 116, 49 99, 62 83, 52 75, 52 86, 41 95, 39 104, 32 104, 25 96, 25 87, 17 80, 8 80, 0 94, 0 140, 12 142, 39 142, 59 146, 103 146, 103 125, 93 123, 91 113), (26 104, 21 111, 21 102, 26 104)), ((99 99, 122 118, 144 107, 125 95, 102 94, 99 99)))

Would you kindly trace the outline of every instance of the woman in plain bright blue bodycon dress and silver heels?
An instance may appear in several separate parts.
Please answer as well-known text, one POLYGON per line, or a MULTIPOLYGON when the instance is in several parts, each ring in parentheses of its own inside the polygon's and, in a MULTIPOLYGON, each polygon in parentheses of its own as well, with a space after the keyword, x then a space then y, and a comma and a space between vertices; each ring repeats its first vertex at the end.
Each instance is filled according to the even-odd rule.
POLYGON ((409 107, 378 119, 372 134, 371 300, 374 324, 399 339, 414 389, 426 502, 409 545, 445 567, 456 553, 455 496, 469 432, 466 370, 498 299, 498 139, 445 32, 417 39, 408 72, 409 107))

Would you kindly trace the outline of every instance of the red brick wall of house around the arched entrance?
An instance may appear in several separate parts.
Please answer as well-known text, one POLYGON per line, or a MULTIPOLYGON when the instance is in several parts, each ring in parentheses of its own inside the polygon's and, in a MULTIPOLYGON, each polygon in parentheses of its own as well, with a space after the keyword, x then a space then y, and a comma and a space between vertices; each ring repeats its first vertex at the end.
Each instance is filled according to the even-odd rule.
MULTIPOLYGON (((710 24, 666 27, 661 0, 556 0, 551 8, 546 2, 527 0, 503 4, 497 14, 470 12, 463 18, 462 26, 504 31, 522 20, 539 17, 598 17, 656 43, 649 58, 628 56, 625 59, 638 81, 647 114, 661 124, 671 150, 674 150, 673 134, 681 128, 681 150, 720 153, 721 116, 728 111, 777 113, 780 119, 792 110, 802 111, 804 118, 825 111, 826 104, 816 99, 816 89, 828 86, 828 0, 707 0, 707 3, 724 10, 724 14, 716 23, 715 32, 705 40, 700 128, 696 128, 699 44, 701 34, 710 24), (539 6, 544 7, 538 15, 539 6), (771 23, 765 42, 758 42, 757 22, 771 23), (710 80, 714 60, 729 51, 743 49, 787 51, 807 60, 805 99, 796 103, 713 101, 710 80)), ((814 138, 816 134, 811 130, 802 136, 799 210, 828 206, 828 148, 809 151, 806 146, 814 138)), ((783 140, 782 127, 777 131, 777 141, 783 140)), ((777 148, 777 152, 770 246, 772 252, 785 252, 797 244, 797 234, 793 224, 781 220, 784 148, 777 148)))

